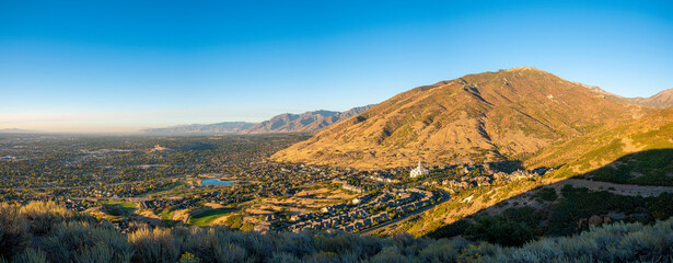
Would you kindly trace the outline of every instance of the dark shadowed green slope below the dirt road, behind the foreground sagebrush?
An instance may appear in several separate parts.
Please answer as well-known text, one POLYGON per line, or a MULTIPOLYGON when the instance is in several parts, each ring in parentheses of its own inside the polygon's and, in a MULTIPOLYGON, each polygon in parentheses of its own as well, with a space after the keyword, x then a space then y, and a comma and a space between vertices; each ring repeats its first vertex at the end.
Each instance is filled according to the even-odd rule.
POLYGON ((475 241, 521 245, 539 237, 580 233, 590 227, 588 219, 591 217, 597 224, 618 220, 654 224, 673 215, 671 193, 657 197, 623 196, 566 185, 560 196, 554 188, 543 188, 537 192, 536 197, 542 199, 542 209, 525 206, 507 208, 492 216, 471 216, 438 228, 428 236, 450 238, 462 235, 475 241), (610 215, 619 218, 612 218, 610 215), (582 221, 584 224, 578 224, 582 221))

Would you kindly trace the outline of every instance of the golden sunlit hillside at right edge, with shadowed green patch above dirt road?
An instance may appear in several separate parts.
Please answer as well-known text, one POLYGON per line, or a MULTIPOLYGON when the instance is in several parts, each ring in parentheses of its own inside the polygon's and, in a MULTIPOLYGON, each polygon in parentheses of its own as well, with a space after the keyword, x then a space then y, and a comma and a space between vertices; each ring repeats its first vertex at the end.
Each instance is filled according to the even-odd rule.
POLYGON ((673 185, 673 108, 549 147, 524 164, 562 165, 558 179, 673 185))

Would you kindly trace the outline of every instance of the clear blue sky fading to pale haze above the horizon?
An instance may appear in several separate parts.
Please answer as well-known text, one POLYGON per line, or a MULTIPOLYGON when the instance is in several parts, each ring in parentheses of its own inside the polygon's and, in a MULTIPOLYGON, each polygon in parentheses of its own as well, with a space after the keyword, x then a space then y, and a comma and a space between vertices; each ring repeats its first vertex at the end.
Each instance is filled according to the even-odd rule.
POLYGON ((259 122, 519 66, 673 88, 673 1, 0 0, 0 129, 259 122))

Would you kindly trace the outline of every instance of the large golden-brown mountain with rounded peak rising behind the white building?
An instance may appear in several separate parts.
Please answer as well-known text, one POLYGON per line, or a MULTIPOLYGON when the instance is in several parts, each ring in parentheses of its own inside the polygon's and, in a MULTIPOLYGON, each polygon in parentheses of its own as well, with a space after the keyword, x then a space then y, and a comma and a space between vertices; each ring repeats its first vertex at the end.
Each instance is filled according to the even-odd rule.
POLYGON ((526 158, 653 110, 530 68, 418 87, 277 152, 277 161, 362 169, 526 158))

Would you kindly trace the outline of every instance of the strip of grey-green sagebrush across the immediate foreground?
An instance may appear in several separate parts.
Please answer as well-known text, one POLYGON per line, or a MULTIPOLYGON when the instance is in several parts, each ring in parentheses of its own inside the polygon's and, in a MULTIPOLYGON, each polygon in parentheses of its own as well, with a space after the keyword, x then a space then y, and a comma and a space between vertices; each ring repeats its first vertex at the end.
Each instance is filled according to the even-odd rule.
POLYGON ((227 227, 128 233, 54 203, 0 204, 0 262, 664 262, 673 220, 617 222, 578 237, 502 247, 465 239, 341 232, 260 235, 227 227), (39 216, 36 216, 36 215, 39 216), (40 227, 44 231, 37 231, 40 227))

